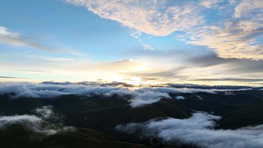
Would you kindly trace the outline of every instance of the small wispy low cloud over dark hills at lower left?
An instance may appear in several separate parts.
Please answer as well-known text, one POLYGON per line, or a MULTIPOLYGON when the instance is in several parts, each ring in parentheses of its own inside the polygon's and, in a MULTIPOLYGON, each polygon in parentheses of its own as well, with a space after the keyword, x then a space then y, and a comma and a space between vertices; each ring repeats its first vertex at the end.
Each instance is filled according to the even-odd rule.
POLYGON ((54 118, 61 118, 53 111, 52 106, 43 106, 32 111, 34 114, 0 116, 0 130, 8 128, 10 125, 22 125, 30 132, 52 135, 58 132, 74 131, 74 127, 62 126, 61 123, 51 123, 54 118))

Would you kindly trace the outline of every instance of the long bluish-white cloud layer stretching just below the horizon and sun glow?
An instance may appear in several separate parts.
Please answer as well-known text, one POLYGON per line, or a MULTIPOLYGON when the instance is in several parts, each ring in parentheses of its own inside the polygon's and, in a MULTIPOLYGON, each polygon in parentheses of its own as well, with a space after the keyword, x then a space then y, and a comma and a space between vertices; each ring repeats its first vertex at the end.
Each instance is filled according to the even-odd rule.
MULTIPOLYGON (((131 95, 129 100, 131 107, 138 107, 145 104, 158 102, 161 98, 172 99, 169 93, 195 93, 207 92, 217 93, 226 91, 246 91, 251 89, 194 89, 194 88, 172 88, 172 87, 123 87, 112 85, 95 85, 85 83, 19 83, 19 82, 0 82, 0 94, 13 93, 13 98, 33 97, 33 98, 52 98, 60 95, 79 94, 79 95, 103 95, 110 97, 113 94, 120 96, 131 95)), ((175 97, 174 99, 183 99, 175 97)))

